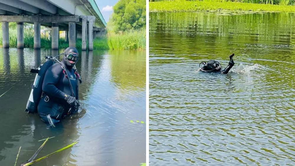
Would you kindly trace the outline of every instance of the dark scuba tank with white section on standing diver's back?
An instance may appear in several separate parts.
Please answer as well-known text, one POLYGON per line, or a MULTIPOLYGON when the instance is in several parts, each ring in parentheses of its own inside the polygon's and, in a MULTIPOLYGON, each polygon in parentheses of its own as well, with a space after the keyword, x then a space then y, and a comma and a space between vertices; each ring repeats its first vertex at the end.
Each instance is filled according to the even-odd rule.
MULTIPOLYGON (((46 58, 46 57, 45 57, 46 58)), ((37 113, 37 107, 42 96, 42 84, 47 69, 55 62, 47 59, 46 62, 39 66, 37 69, 31 69, 31 73, 36 73, 34 83, 32 84, 32 90, 27 102, 25 111, 28 113, 37 113)))

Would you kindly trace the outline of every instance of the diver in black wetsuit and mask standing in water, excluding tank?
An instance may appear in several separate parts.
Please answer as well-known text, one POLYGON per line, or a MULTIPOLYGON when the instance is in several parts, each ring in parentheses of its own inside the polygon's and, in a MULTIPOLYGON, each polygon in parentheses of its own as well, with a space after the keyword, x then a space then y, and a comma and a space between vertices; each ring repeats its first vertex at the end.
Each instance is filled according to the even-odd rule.
POLYGON ((43 93, 37 108, 40 118, 46 124, 54 126, 65 116, 78 111, 78 74, 73 69, 78 60, 78 50, 68 47, 65 49, 62 64, 55 63, 46 71, 42 84, 43 93))

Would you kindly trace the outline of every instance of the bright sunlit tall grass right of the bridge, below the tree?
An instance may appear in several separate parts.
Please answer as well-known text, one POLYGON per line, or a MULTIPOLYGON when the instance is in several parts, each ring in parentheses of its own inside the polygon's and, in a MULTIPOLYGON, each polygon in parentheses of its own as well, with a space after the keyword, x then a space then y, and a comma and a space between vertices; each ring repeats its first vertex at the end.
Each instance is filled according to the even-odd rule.
POLYGON ((145 28, 122 33, 108 32, 108 45, 112 50, 142 50, 146 45, 145 28))

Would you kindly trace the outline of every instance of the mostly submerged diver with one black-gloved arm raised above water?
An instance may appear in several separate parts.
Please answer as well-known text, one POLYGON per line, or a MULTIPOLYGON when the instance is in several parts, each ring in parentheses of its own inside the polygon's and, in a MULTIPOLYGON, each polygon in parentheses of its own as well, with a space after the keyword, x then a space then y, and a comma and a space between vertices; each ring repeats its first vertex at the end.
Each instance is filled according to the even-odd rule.
POLYGON ((201 64, 203 64, 203 66, 199 70, 202 72, 220 72, 221 74, 227 74, 230 71, 230 69, 232 68, 232 66, 235 65, 234 60, 232 59, 232 57, 234 55, 235 55, 234 53, 232 53, 230 55, 230 62, 228 63, 227 67, 224 70, 222 70, 220 63, 216 60, 209 60, 208 62, 201 62, 199 64, 199 67, 201 64))

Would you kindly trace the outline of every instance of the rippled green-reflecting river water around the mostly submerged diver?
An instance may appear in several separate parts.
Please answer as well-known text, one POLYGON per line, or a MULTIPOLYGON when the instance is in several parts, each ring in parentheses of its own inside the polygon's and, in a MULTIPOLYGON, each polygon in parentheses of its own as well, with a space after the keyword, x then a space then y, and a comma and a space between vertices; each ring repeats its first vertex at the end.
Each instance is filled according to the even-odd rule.
POLYGON ((295 165, 295 14, 149 19, 150 165, 295 165))

